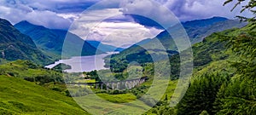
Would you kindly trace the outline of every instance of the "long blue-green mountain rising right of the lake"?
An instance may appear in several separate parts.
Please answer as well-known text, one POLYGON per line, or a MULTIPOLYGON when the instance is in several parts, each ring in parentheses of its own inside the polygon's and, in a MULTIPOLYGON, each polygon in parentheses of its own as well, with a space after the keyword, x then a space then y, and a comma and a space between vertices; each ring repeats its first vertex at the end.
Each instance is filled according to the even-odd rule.
MULTIPOLYGON (((190 42, 195 44, 201 42, 213 32, 222 32, 236 27, 240 28, 246 26, 247 23, 241 23, 239 20, 228 20, 222 17, 212 17, 211 19, 184 22, 182 25, 189 36, 190 42)), ((175 28, 175 26, 170 27, 169 30, 172 30, 172 28, 175 28)), ((124 61, 126 64, 131 61, 146 63, 153 61, 152 56, 156 57, 156 59, 164 60, 162 55, 166 54, 166 52, 168 55, 177 54, 177 46, 167 31, 160 32, 159 35, 149 40, 135 44, 118 55, 113 55, 112 61, 124 61), (166 50, 160 49, 161 46, 166 50)), ((119 64, 111 65, 118 66, 119 64)), ((111 65, 106 66, 111 67, 111 65)), ((122 68, 125 68, 125 66, 122 68)), ((122 70, 118 69, 117 72, 122 70)))

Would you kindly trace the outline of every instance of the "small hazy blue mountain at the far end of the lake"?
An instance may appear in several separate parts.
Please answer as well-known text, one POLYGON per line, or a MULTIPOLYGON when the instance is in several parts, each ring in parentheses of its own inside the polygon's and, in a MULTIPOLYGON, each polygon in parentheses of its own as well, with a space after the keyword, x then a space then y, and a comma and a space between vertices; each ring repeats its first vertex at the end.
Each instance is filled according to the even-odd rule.
POLYGON ((117 47, 114 47, 112 45, 104 44, 104 43, 101 43, 101 42, 98 42, 98 41, 86 41, 86 42, 90 43, 90 45, 92 45, 96 49, 100 49, 104 52, 113 52, 113 51, 122 51, 122 50, 124 50, 122 48, 117 48, 117 47))

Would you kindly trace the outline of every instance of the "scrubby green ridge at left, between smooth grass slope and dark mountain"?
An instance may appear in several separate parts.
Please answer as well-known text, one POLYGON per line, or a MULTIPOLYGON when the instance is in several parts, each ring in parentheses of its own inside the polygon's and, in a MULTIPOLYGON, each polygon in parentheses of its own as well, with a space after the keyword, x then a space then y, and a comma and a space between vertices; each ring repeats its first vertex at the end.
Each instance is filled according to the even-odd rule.
POLYGON ((29 60, 16 60, 0 65, 0 70, 2 75, 24 78, 27 81, 38 84, 51 82, 64 83, 61 72, 44 69, 29 60))

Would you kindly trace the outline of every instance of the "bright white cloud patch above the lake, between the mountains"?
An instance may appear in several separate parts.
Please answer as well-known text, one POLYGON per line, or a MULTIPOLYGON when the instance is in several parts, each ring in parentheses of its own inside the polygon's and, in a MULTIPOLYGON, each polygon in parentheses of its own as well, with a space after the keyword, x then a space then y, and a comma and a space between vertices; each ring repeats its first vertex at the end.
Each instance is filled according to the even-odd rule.
POLYGON ((73 30, 73 33, 86 40, 102 41, 102 43, 114 45, 117 47, 129 47, 145 38, 155 37, 163 30, 146 28, 133 22, 101 22, 97 26, 92 26, 89 35, 84 34, 84 30, 90 28, 90 24, 84 24, 79 29, 73 30), (83 28, 84 27, 84 28, 83 28))

